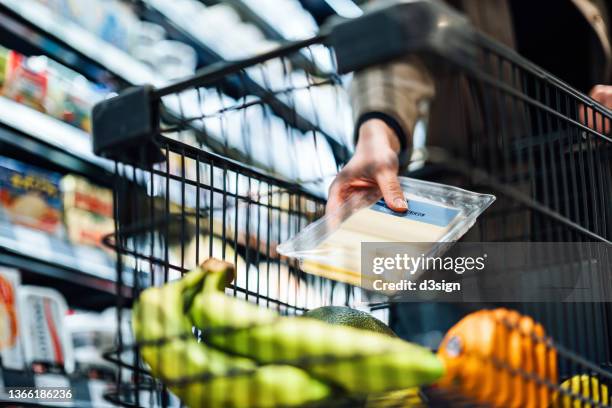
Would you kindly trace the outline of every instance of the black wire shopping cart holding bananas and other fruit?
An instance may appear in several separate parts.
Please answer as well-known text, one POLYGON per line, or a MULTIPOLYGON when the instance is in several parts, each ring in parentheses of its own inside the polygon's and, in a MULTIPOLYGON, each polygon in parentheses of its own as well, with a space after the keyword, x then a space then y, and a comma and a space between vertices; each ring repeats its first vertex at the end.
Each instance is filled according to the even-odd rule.
MULTIPOLYGON (((466 239, 610 248, 612 113, 450 9, 398 2, 336 22, 312 39, 210 66, 165 88, 131 89, 96 106, 94 149, 116 162, 116 231, 107 241, 117 252, 117 293, 128 287, 132 294, 117 299, 121 329, 108 358, 119 373, 111 401, 176 403, 166 389, 172 384, 153 378, 141 362, 129 308, 143 289, 177 279, 208 257, 235 265, 228 294, 283 315, 357 303, 360 289, 306 274, 275 248, 323 214, 325 180, 348 158, 344 74, 407 54, 420 55, 437 78, 457 87, 462 120, 454 136, 463 146, 414 152, 424 165, 410 174, 498 196, 466 239), (304 58, 312 62, 307 69, 294 64, 304 58)), ((598 261, 609 265, 609 251, 598 261)), ((612 293, 611 282, 599 282, 605 293, 612 293)), ((540 322, 545 334, 506 318, 495 321, 497 330, 519 336, 540 357, 522 365, 504 350, 466 358, 492 378, 506 375, 511 390, 501 383, 467 391, 434 386, 416 400, 369 398, 369 406, 527 406, 529 393, 529 406, 609 406, 611 304, 510 306, 540 322), (538 359, 547 368, 534 368, 538 359), (575 375, 589 377, 560 386, 575 375), (492 397, 501 394, 507 395, 492 397)), ((401 309, 382 303, 370 310, 393 323, 401 309)), ((367 399, 339 396, 320 405, 367 399)))

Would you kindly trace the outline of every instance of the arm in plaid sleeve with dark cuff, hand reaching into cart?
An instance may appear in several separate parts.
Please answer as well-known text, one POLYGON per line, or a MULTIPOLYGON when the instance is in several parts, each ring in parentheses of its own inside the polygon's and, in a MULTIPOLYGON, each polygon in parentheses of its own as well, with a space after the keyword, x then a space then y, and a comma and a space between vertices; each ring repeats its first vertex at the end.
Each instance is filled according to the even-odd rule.
POLYGON ((434 97, 434 83, 417 58, 368 68, 355 74, 351 99, 355 115, 355 154, 329 190, 327 211, 350 195, 378 192, 389 208, 406 211, 399 185, 398 155, 411 145, 423 101, 434 97))

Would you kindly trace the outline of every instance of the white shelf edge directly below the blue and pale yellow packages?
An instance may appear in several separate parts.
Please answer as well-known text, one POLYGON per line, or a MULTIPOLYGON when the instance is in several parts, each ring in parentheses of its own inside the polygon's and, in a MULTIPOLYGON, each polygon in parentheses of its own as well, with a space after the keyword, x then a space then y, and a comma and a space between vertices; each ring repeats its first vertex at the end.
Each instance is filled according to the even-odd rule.
POLYGON ((58 288, 71 306, 102 309, 116 303, 115 264, 101 249, 2 222, 0 264, 20 269, 26 284, 58 288))

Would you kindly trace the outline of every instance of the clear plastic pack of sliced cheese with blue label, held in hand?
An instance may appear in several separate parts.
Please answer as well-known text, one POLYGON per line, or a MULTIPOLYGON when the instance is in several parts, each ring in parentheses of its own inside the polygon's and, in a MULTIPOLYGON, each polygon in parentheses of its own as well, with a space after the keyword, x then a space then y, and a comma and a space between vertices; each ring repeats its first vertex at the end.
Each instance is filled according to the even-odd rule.
POLYGON ((408 177, 400 177, 400 184, 408 211, 391 210, 379 196, 353 196, 278 251, 299 259, 308 273, 362 286, 361 243, 408 242, 414 256, 439 256, 495 201, 493 195, 408 177))

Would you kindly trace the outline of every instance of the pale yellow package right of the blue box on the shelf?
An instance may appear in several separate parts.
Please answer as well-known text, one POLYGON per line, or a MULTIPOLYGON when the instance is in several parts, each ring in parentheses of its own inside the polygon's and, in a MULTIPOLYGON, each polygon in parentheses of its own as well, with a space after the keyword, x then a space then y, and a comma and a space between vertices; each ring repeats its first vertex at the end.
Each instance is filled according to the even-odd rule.
POLYGON ((114 231, 112 191, 73 174, 64 176, 60 185, 68 239, 106 249, 102 238, 114 231))

